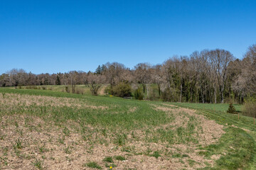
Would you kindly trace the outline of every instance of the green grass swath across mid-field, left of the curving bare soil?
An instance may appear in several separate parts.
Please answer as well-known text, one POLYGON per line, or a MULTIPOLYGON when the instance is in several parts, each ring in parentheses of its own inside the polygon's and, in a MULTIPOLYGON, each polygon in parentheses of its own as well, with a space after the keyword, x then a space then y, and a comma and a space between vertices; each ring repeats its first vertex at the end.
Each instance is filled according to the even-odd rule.
POLYGON ((57 124, 65 123, 66 120, 80 120, 81 124, 97 125, 110 130, 117 129, 117 127, 122 127, 126 130, 135 130, 149 125, 162 125, 171 120, 171 118, 167 118, 164 112, 152 111, 151 106, 149 106, 151 102, 131 101, 122 98, 110 98, 105 96, 81 96, 78 94, 30 89, 1 88, 0 93, 3 92, 36 96, 78 98, 80 101, 92 104, 94 106, 109 107, 105 110, 95 110, 90 108, 85 110, 65 106, 19 106, 18 108, 12 108, 11 111, 8 111, 9 114, 14 114, 23 113, 26 110, 26 112, 31 115, 42 116, 45 118, 50 116, 48 118, 50 118, 50 120, 54 120, 57 124), (137 111, 135 113, 129 113, 130 107, 137 107, 137 111))

